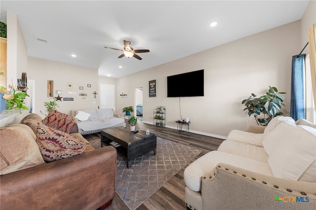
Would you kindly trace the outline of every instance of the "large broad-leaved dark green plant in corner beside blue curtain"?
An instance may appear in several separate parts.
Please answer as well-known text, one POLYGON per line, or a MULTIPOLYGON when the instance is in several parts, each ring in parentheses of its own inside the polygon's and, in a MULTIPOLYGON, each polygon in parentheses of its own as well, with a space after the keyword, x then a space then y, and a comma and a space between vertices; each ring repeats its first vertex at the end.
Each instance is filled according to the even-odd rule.
POLYGON ((269 86, 269 91, 266 95, 257 96, 255 94, 251 94, 247 99, 243 100, 241 104, 244 104, 246 108, 243 110, 248 110, 249 117, 251 115, 254 116, 258 125, 267 126, 272 118, 278 115, 283 115, 281 111, 281 105, 284 97, 280 94, 286 94, 284 92, 278 92, 276 87, 269 86), (260 116, 263 115, 263 118, 260 116))

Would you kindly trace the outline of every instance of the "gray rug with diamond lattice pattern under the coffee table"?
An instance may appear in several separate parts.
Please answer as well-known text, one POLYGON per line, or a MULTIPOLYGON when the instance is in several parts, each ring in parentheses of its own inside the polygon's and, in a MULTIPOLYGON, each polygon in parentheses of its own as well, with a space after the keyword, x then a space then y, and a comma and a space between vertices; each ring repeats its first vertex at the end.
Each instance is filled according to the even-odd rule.
MULTIPOLYGON (((98 148, 97 142, 90 143, 98 148)), ((157 137, 157 154, 152 151, 136 158, 129 169, 118 156, 116 192, 129 209, 135 210, 201 152, 157 137)))

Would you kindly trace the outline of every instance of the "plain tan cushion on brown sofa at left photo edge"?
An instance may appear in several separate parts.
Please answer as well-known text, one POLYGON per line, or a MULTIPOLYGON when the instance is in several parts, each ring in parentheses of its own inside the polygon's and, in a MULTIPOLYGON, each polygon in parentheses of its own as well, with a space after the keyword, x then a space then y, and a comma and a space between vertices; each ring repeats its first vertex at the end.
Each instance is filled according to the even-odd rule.
POLYGON ((0 175, 45 163, 35 139, 32 129, 24 124, 0 130, 0 175))

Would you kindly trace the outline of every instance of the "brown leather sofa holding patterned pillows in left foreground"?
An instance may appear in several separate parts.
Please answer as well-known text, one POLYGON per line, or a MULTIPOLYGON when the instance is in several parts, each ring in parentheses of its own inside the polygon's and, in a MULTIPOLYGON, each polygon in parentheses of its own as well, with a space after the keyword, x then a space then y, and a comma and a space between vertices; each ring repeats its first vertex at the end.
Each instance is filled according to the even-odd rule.
MULTIPOLYGON (((37 124, 39 117, 28 116, 21 121, 28 126, 17 124, 1 129, 1 168, 6 162, 2 155, 7 151, 3 147, 5 138, 14 143, 13 132, 22 136, 20 141, 29 138, 28 135, 34 139, 34 130, 29 126, 37 124)), ((76 130, 76 124, 73 129, 76 130)), ((83 139, 79 133, 72 135, 83 139)), ((115 193, 116 149, 113 146, 93 149, 85 142, 83 154, 1 175, 0 209, 96 210, 110 206, 115 193)), ((26 148, 11 152, 17 153, 19 149, 26 148)))

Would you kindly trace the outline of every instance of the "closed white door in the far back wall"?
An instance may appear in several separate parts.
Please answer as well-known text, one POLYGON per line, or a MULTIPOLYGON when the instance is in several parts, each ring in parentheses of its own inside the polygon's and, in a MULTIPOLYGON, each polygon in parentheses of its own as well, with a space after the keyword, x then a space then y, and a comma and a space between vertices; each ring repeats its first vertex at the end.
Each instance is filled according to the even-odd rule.
POLYGON ((114 85, 100 84, 100 108, 114 110, 114 96, 114 85))

